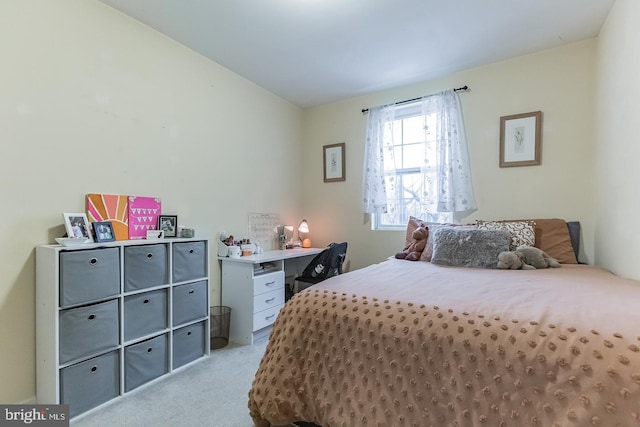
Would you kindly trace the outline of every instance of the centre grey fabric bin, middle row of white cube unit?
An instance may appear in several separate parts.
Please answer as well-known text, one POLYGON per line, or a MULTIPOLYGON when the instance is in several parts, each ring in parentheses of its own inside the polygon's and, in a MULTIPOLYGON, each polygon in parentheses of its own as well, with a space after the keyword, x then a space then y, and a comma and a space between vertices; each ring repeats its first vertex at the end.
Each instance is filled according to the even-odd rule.
POLYGON ((167 328, 166 289, 124 297, 124 340, 130 341, 167 328))

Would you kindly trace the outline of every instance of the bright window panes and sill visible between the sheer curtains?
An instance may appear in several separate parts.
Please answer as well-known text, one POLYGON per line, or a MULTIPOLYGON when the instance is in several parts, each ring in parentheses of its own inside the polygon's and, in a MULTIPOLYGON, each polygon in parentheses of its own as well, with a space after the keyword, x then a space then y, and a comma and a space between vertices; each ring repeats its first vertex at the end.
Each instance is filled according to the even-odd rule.
POLYGON ((450 212, 427 212, 422 196, 436 191, 436 114, 422 114, 420 102, 398 106, 385 123, 384 175, 387 212, 373 216, 377 230, 404 229, 409 217, 451 222, 450 212))

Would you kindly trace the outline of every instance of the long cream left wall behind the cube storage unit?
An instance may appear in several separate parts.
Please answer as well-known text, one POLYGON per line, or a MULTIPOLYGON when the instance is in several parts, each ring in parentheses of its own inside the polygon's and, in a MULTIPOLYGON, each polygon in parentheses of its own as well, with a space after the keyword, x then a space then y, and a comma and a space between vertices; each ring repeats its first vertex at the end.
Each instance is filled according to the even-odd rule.
POLYGON ((34 247, 61 213, 101 192, 159 196, 199 237, 246 234, 249 212, 297 219, 302 119, 96 1, 0 2, 0 52, 0 402, 18 403, 35 395, 34 247))

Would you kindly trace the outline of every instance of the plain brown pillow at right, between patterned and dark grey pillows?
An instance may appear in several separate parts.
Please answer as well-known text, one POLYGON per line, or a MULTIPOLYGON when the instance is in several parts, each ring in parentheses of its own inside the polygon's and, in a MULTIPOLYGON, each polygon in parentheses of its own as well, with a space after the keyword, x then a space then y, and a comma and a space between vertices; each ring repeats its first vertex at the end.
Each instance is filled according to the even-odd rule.
POLYGON ((563 219, 534 219, 536 223, 537 248, 558 260, 560 264, 577 264, 578 260, 571 245, 569 228, 563 219))

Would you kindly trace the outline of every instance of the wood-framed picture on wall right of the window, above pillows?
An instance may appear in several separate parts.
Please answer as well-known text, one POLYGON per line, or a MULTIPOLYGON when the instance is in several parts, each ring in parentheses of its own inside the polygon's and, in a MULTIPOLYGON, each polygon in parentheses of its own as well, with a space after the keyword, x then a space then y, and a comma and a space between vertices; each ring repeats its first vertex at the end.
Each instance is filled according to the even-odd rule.
POLYGON ((542 111, 500 117, 500 167, 539 165, 542 111))

